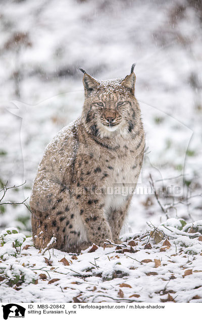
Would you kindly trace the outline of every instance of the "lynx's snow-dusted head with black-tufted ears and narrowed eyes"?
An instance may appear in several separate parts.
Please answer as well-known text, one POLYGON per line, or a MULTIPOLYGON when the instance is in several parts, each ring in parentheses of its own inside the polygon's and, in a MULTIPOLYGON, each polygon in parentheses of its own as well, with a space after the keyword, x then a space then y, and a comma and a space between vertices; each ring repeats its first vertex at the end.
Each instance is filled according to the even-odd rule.
POLYGON ((85 101, 82 122, 87 132, 99 137, 127 135, 135 131, 140 111, 134 96, 135 64, 125 78, 97 81, 84 73, 85 101))

